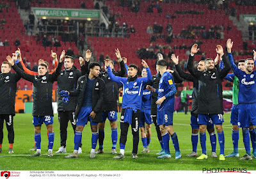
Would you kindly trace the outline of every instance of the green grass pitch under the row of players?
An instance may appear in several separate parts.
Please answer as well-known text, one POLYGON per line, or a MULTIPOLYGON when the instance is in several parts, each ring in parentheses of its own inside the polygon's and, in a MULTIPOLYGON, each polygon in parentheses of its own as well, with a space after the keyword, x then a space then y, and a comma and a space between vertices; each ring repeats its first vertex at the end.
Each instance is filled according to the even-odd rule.
MULTIPOLYGON (((60 147, 60 130, 57 114, 54 116, 54 146, 55 153, 60 147)), ((118 113, 120 119, 120 113, 118 113)), ((223 130, 225 134, 225 155, 232 152, 232 125, 230 124, 230 113, 224 114, 223 130)), ((132 159, 132 134, 131 127, 127 136, 127 143, 125 146, 125 159, 114 160, 114 155, 111 154, 111 128, 108 120, 106 121, 104 152, 98 154, 96 158, 90 159, 91 137, 92 133, 90 125, 86 125, 83 131, 82 150, 83 153, 77 159, 65 159, 67 153, 74 150, 74 133, 71 125, 68 125, 68 139, 67 139, 67 153, 55 154, 54 157, 47 157, 47 134, 45 125, 42 125, 42 156, 29 157, 33 152, 29 149, 34 145, 34 128, 32 125, 31 114, 17 114, 14 117, 14 131, 15 140, 13 144, 13 151, 15 153, 8 154, 8 139, 7 130, 4 125, 4 140, 3 153, 0 153, 1 170, 201 170, 202 168, 223 167, 225 169, 231 167, 246 168, 247 171, 256 169, 256 159, 253 160, 239 160, 237 158, 226 158, 225 161, 220 161, 218 158, 211 158, 211 144, 209 142, 209 135, 207 135, 207 153, 209 158, 207 160, 196 160, 195 157, 186 157, 191 152, 191 127, 190 115, 184 113, 177 113, 173 116, 173 127, 177 133, 180 145, 181 159, 175 159, 175 151, 170 140, 170 152, 172 158, 157 159, 156 153, 160 150, 160 144, 157 140, 156 130, 152 124, 152 139, 149 145, 150 153, 141 153, 143 146, 140 140, 138 157, 139 159, 132 159)), ((239 132, 239 153, 240 156, 245 154, 242 132, 239 132)), ((120 137, 120 122, 118 120, 118 143, 116 151, 119 152, 119 137, 120 137)), ((97 146, 98 148, 98 146, 97 146)), ((97 149, 96 148, 96 149, 97 149)), ((202 153, 200 141, 198 140, 198 155, 202 153)), ((220 147, 217 138, 217 155, 220 153, 220 147)))

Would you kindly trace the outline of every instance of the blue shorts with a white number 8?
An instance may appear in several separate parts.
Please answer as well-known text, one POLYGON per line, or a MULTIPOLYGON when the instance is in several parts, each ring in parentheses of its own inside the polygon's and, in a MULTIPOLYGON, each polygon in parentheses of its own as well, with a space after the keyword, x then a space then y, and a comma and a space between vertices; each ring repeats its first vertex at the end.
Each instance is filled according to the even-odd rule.
POLYGON ((173 112, 168 110, 157 111, 157 125, 173 125, 173 112))

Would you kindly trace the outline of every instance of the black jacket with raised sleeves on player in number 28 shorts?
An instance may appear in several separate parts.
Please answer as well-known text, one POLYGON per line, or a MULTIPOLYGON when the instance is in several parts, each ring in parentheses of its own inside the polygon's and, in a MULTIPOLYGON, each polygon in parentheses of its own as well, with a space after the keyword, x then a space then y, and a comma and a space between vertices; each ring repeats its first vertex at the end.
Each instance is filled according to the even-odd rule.
POLYGON ((26 74, 17 65, 13 65, 13 70, 17 74, 27 81, 33 82, 33 116, 53 116, 52 84, 60 74, 62 65, 63 62, 58 63, 54 73, 46 73, 43 76, 26 74))

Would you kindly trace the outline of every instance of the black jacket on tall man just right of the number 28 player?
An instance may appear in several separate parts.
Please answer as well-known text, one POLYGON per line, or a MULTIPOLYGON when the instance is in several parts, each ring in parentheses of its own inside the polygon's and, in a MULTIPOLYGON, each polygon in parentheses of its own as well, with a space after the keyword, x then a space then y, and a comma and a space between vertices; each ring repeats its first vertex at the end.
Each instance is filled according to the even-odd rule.
MULTIPOLYGON (((88 68, 88 63, 81 66, 81 70, 85 73, 83 68, 88 68)), ((82 74, 80 70, 77 69, 76 66, 72 66, 70 70, 62 70, 60 75, 58 75, 58 111, 75 111, 77 105, 77 97, 70 97, 68 99, 68 103, 63 102, 62 97, 60 95, 60 91, 75 91, 77 88, 77 81, 82 74)))

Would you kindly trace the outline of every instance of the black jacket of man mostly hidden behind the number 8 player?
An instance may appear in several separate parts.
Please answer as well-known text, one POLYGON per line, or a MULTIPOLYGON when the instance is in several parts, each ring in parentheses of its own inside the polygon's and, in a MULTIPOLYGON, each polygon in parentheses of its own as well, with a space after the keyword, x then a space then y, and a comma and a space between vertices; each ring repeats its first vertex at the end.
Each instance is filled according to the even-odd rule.
MULTIPOLYGON (((175 83, 180 83, 183 81, 183 79, 179 77, 179 74, 177 74, 177 72, 174 71, 172 75, 175 83)), ((161 79, 161 74, 157 73, 156 75, 152 76, 152 81, 148 82, 148 85, 152 86, 155 89, 158 89, 160 79, 161 79)), ((157 93, 152 93, 151 110, 150 110, 150 114, 152 115, 157 114, 157 105, 156 105, 157 96, 158 96, 157 93)))

